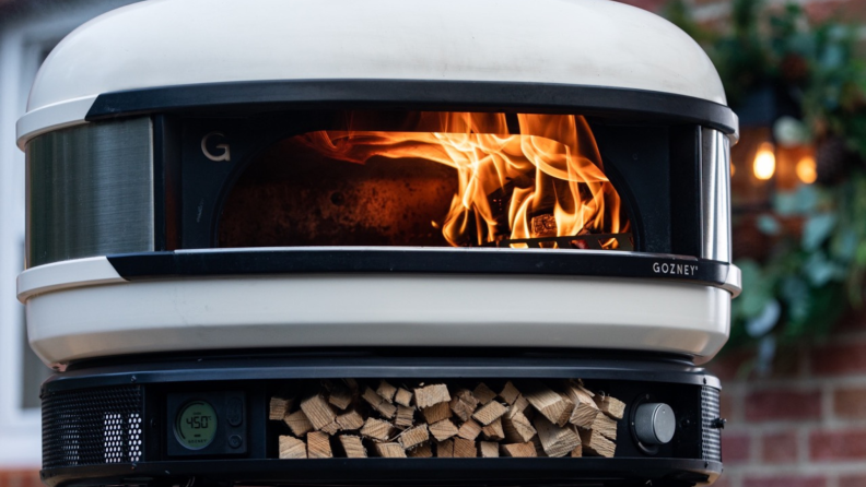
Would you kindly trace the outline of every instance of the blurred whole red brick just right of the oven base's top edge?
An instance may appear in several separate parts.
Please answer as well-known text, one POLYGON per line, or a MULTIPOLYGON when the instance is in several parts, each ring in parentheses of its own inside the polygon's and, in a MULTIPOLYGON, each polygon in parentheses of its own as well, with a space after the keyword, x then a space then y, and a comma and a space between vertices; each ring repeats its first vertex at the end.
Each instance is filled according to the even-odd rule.
POLYGON ((749 421, 818 419, 821 416, 821 393, 818 390, 757 391, 746 396, 745 405, 749 421))

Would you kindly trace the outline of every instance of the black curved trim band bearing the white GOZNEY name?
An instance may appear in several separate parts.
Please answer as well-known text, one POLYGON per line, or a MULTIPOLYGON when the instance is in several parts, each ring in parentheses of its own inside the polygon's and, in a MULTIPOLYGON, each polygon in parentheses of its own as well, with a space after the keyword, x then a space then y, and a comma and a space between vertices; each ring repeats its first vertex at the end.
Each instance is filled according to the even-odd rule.
POLYGON ((267 248, 107 256, 128 281, 165 277, 425 273, 652 278, 723 287, 726 262, 616 250, 267 248))

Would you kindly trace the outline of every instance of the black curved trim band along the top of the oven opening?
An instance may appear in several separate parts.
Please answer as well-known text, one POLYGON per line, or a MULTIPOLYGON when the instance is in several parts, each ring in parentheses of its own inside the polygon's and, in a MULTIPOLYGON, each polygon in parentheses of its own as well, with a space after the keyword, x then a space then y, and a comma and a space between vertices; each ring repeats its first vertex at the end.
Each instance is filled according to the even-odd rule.
POLYGON ((739 121, 725 106, 647 90, 562 83, 440 80, 277 80, 201 83, 104 93, 85 120, 202 109, 280 110, 390 107, 471 111, 623 115, 697 123, 736 134, 739 121))

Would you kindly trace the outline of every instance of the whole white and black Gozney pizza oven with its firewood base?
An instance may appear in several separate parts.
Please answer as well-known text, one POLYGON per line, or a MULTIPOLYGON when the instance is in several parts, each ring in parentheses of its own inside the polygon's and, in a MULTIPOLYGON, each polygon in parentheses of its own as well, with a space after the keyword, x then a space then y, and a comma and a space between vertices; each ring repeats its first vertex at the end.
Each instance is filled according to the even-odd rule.
POLYGON ((722 471, 738 122, 655 15, 143 2, 17 129, 50 486, 722 471))

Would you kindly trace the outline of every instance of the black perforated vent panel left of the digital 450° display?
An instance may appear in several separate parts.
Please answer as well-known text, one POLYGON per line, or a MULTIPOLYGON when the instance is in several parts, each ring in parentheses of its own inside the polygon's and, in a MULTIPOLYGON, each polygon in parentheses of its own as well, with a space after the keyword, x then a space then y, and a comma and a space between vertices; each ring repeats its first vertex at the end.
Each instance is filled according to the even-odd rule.
POLYGON ((138 385, 47 393, 43 397, 43 468, 141 460, 138 385))

